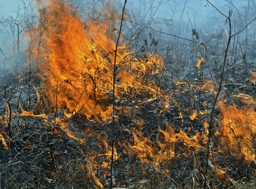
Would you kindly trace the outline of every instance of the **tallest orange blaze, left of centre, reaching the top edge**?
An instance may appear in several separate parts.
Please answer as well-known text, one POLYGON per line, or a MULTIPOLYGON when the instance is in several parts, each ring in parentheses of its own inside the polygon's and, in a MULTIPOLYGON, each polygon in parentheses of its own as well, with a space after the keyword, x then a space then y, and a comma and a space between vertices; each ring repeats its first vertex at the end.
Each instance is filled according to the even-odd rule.
MULTIPOLYGON (((63 0, 49 1, 46 10, 45 21, 38 26, 45 30, 41 38, 34 39, 41 40, 34 57, 41 55, 38 67, 43 72, 43 89, 51 105, 92 121, 109 120, 115 49, 112 21, 83 22, 63 0)), ((151 77, 164 67, 162 59, 154 55, 139 59, 127 49, 122 45, 117 52, 116 98, 122 101, 131 93, 156 95, 157 87, 151 77)))

